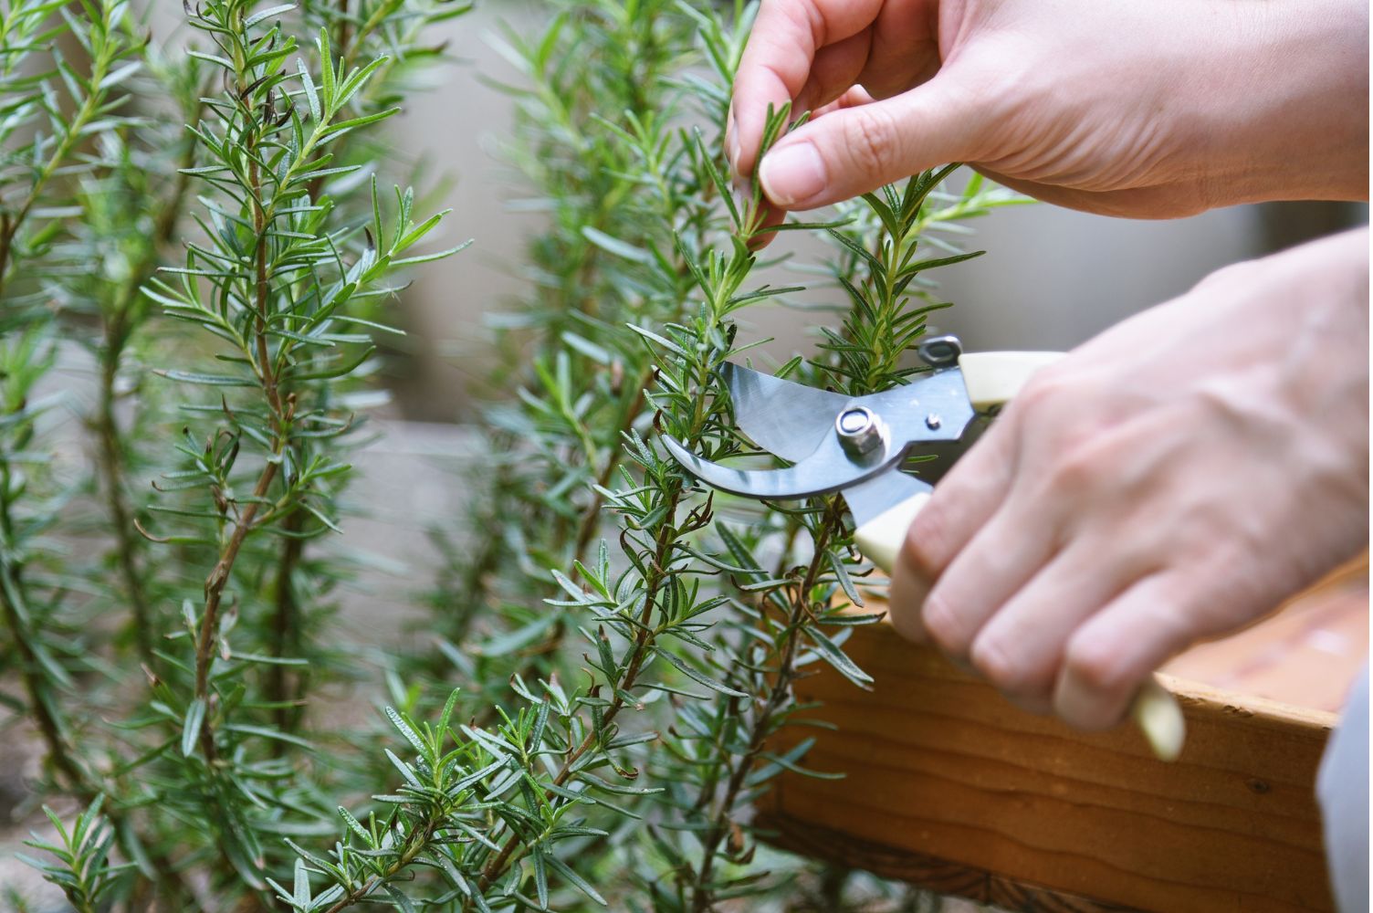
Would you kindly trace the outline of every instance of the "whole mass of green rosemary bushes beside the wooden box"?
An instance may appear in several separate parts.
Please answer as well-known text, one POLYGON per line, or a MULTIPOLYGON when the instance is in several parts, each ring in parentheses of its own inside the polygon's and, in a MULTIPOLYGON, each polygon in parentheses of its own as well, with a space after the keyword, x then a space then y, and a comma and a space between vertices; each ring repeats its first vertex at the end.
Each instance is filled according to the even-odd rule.
MULTIPOLYGON (((501 38, 505 151, 548 220, 527 299, 490 320, 492 386, 519 393, 483 409, 432 649, 347 643, 324 544, 378 338, 404 275, 461 247, 383 189, 405 180, 384 121, 465 8, 200 0, 166 45, 125 0, 0 19, 0 695, 56 809, 36 865, 77 909, 846 903, 751 816, 781 772, 843 773, 772 746, 809 664, 872 686, 843 651, 877 619, 854 610, 870 568, 842 501, 717 497, 658 438, 755 453, 719 367, 759 342, 747 309, 800 291, 766 281, 765 235, 833 244, 835 325, 777 373, 864 394, 914 369, 943 306, 925 273, 976 255, 938 232, 1013 198, 943 169, 765 225, 721 154, 751 7, 548 0, 501 38), (89 402, 60 401, 88 476, 52 457, 69 340, 93 365, 89 402), (92 535, 99 562, 65 545, 92 535), (349 725, 319 713, 345 685, 384 729, 356 700, 349 725)), ((770 113, 765 141, 799 119, 770 113)))

